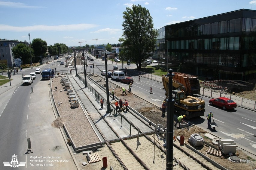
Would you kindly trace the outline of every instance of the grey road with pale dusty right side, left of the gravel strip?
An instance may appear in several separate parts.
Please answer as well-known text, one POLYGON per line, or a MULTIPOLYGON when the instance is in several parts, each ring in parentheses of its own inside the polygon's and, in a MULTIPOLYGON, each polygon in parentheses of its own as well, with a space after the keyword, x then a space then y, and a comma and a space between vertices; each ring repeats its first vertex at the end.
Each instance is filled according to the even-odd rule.
MULTIPOLYGON (((23 69, 23 74, 34 71, 35 68, 23 69)), ((60 130, 51 126, 56 118, 48 83, 41 81, 41 74, 38 74, 32 85, 23 86, 20 79, 20 84, 5 92, 10 98, 0 117, 1 161, 10 162, 15 154, 19 162, 26 162, 20 169, 76 169, 60 130), (28 138, 33 151, 30 154, 27 154, 28 138), (40 166, 36 166, 38 164, 40 166)), ((0 163, 1 170, 9 167, 0 163)))

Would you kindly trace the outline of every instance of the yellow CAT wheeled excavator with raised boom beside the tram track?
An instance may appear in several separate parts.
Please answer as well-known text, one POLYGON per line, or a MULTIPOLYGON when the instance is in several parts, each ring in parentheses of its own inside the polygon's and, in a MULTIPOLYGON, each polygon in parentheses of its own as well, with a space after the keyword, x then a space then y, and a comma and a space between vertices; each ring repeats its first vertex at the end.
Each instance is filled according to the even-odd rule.
MULTIPOLYGON (((169 92, 169 78, 165 75, 162 75, 162 82, 164 90, 166 92, 165 96, 167 99, 169 92)), ((181 83, 175 80, 172 80, 172 89, 172 98, 174 99, 174 111, 178 112, 180 115, 186 115, 186 119, 204 116, 205 102, 203 98, 199 99, 193 96, 186 97, 186 88, 181 83)))

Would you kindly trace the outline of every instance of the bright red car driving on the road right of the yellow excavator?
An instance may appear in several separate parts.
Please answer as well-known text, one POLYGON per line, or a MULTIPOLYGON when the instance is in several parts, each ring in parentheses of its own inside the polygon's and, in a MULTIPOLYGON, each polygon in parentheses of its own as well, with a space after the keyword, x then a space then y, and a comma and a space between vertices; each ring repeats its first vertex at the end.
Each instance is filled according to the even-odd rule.
POLYGON ((213 98, 209 100, 209 103, 210 105, 222 107, 223 110, 236 108, 236 103, 230 98, 226 97, 213 98))

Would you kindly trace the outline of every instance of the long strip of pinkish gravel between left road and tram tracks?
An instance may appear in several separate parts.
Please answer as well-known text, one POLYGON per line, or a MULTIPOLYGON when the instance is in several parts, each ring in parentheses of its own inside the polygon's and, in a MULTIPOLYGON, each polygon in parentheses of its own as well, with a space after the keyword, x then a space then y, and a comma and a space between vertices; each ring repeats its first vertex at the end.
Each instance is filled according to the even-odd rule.
POLYGON ((76 147, 100 142, 81 106, 72 108, 69 95, 64 85, 60 83, 60 79, 61 77, 57 77, 52 81, 53 88, 58 86, 57 91, 53 92, 53 98, 61 116, 61 119, 56 119, 56 122, 53 122, 53 127, 60 126, 61 122, 63 122, 76 147), (58 102, 62 102, 62 104, 57 104, 58 102))

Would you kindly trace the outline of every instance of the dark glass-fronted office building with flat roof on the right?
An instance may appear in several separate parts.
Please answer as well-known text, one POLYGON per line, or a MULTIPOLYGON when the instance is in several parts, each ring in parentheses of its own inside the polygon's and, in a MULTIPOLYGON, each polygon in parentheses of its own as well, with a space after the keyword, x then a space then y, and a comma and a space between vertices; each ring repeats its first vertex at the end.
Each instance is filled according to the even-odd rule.
POLYGON ((256 78, 256 10, 166 25, 158 30, 154 59, 168 69, 192 75, 256 78))

